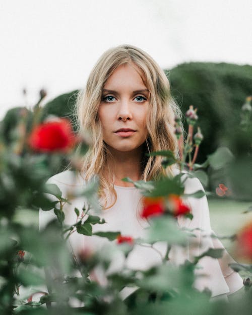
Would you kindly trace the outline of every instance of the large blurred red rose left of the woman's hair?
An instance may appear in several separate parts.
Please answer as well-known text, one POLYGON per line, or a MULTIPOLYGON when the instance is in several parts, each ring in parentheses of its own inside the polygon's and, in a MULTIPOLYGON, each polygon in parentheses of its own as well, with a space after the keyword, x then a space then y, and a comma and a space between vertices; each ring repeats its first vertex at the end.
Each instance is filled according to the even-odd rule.
POLYGON ((39 124, 32 131, 28 143, 35 151, 67 152, 77 143, 71 122, 66 118, 39 124))

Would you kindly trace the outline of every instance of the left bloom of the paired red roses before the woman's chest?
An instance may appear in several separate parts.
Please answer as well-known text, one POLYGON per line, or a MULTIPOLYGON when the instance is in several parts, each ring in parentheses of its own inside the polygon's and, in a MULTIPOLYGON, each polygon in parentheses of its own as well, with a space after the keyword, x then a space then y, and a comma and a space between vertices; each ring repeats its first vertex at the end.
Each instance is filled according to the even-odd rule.
POLYGON ((151 198, 145 197, 144 208, 141 213, 142 218, 149 218, 151 216, 159 216, 164 213, 164 199, 162 197, 151 198))

